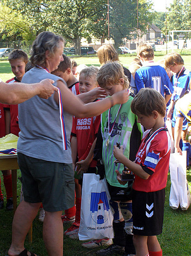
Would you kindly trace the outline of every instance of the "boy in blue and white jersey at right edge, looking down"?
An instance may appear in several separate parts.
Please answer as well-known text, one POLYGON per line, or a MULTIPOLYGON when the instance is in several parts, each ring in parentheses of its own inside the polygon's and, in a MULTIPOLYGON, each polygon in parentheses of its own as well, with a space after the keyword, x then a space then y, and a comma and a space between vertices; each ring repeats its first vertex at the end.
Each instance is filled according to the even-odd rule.
MULTIPOLYGON (((174 127, 176 123, 176 110, 174 109, 174 105, 176 101, 182 98, 186 93, 189 92, 189 82, 191 80, 191 72, 187 70, 184 66, 183 59, 181 55, 177 52, 172 52, 166 55, 165 57, 165 66, 169 68, 172 72, 174 72, 173 76, 173 86, 174 92, 171 97, 171 102, 167 111, 167 118, 172 119, 172 128, 174 134, 174 127)), ((183 126, 182 126, 182 150, 187 151, 187 167, 189 167, 189 157, 191 156, 190 152, 190 144, 186 139, 188 129, 187 119, 184 118, 183 126)))

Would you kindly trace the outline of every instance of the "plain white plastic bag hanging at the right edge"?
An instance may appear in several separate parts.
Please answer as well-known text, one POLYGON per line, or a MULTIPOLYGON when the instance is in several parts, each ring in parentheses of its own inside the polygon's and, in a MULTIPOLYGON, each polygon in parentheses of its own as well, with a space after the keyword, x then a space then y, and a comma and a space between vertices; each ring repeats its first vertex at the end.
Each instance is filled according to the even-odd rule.
POLYGON ((173 209, 177 209, 180 204, 182 210, 187 210, 191 203, 186 179, 186 153, 186 151, 182 151, 182 156, 179 153, 173 153, 170 156, 171 192, 169 205, 173 209))

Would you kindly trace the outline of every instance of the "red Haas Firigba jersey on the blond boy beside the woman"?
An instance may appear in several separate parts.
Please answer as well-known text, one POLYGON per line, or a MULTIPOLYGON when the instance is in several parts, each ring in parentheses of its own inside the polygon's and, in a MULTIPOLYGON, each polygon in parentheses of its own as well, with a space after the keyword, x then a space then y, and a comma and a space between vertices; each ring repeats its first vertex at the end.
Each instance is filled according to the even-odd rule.
MULTIPOLYGON (((72 136, 77 138, 77 156, 80 160, 87 158, 91 146, 96 139, 100 126, 100 116, 73 119, 72 136)), ((92 160, 89 167, 96 167, 97 161, 92 160)))

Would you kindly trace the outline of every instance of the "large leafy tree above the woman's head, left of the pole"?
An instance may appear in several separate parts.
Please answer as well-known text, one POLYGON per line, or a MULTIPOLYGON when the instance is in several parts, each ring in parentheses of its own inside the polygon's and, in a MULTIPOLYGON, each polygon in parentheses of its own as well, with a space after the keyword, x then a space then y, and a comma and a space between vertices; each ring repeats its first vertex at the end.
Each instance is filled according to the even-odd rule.
POLYGON ((60 33, 75 44, 80 53, 80 39, 101 38, 105 31, 106 0, 49 1, 46 10, 48 29, 60 33))

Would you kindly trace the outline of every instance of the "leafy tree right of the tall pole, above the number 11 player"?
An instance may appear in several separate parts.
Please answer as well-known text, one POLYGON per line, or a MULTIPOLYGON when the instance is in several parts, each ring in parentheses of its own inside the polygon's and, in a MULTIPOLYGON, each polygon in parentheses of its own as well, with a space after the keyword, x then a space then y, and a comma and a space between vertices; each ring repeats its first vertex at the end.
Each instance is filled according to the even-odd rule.
MULTIPOLYGON (((110 36, 115 48, 122 44, 123 38, 137 36, 137 1, 110 0, 110 36)), ((150 0, 138 1, 139 32, 144 32, 147 23, 152 21, 152 4, 150 0)))

